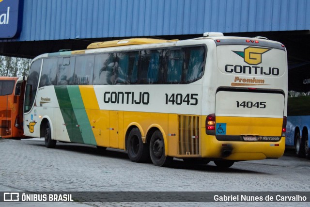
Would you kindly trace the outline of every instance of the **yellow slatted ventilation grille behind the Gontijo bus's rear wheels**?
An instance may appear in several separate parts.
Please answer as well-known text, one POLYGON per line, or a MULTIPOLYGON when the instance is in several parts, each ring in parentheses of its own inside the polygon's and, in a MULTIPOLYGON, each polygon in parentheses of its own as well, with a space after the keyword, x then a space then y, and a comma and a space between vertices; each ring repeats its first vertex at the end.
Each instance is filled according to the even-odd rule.
POLYGON ((178 115, 178 155, 199 155, 199 116, 178 115))

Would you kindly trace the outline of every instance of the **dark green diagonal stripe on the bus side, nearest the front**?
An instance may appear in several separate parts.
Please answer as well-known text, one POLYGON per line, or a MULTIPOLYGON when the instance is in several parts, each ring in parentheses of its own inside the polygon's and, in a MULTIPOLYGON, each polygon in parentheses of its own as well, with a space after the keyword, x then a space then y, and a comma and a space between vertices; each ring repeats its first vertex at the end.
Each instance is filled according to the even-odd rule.
POLYGON ((84 143, 80 130, 76 127, 78 125, 78 122, 73 111, 67 86, 54 87, 70 141, 75 143, 84 143))

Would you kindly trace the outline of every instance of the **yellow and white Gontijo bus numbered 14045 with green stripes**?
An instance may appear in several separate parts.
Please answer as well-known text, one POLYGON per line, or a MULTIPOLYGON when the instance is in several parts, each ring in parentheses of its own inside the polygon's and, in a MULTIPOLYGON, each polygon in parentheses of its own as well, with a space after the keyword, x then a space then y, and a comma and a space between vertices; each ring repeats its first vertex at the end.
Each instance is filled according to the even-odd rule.
POLYGON ((287 55, 265 38, 206 32, 190 40, 125 39, 33 59, 24 132, 127 150, 134 162, 279 158, 287 55))

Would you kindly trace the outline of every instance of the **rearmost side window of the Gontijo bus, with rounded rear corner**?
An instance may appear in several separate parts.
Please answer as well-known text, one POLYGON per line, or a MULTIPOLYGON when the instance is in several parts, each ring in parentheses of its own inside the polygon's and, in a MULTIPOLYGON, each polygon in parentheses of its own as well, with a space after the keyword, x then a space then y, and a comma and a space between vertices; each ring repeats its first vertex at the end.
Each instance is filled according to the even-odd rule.
POLYGON ((204 48, 185 48, 186 49, 186 66, 185 67, 185 82, 194 82, 202 77, 204 64, 204 48))

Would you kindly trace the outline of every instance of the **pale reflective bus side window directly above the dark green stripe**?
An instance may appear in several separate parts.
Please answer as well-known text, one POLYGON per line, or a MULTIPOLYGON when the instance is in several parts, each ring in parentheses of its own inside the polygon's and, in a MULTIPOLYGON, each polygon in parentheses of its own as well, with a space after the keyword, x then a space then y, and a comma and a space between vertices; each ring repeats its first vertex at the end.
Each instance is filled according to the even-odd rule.
POLYGON ((75 57, 64 57, 58 59, 58 85, 72 85, 74 80, 75 57))

